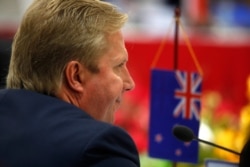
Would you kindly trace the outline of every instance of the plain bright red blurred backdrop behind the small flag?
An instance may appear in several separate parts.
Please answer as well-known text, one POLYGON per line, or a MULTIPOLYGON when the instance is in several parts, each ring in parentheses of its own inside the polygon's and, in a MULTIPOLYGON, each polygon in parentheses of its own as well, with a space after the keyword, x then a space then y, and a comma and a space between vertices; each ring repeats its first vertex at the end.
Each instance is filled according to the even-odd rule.
MULTIPOLYGON (((149 41, 129 41, 126 46, 129 53, 129 69, 136 82, 133 96, 149 97, 150 68, 161 39, 149 41)), ((220 43, 211 40, 191 39, 193 50, 203 70, 203 92, 217 91, 224 101, 232 104, 232 111, 238 115, 240 108, 247 103, 246 79, 250 75, 250 43, 233 41, 220 43)), ((157 68, 173 69, 173 41, 167 41, 157 62, 157 68)), ((197 71, 189 54, 187 45, 179 44, 178 69, 197 71)), ((140 101, 140 99, 134 100, 140 101)))

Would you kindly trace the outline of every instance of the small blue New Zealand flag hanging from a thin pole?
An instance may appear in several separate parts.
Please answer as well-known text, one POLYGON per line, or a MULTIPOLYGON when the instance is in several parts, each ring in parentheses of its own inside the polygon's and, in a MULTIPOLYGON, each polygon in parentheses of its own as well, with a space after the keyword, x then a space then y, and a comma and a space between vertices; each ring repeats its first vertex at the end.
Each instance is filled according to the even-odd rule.
POLYGON ((172 134, 176 124, 198 136, 202 77, 184 71, 152 70, 149 155, 174 162, 198 162, 198 143, 182 142, 172 134))

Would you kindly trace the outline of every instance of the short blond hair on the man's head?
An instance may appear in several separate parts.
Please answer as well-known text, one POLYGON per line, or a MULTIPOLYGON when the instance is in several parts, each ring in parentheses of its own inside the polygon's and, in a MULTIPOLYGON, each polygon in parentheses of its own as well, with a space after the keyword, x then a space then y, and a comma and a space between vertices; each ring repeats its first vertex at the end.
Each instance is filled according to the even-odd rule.
POLYGON ((99 0, 35 0, 14 37, 7 88, 54 94, 71 60, 97 72, 107 35, 126 21, 126 14, 99 0))

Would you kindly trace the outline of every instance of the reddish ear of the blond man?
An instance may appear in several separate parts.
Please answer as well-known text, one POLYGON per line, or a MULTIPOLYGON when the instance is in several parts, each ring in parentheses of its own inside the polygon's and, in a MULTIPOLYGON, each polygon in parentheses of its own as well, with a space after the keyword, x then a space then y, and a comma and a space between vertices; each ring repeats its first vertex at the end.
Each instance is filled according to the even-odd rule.
POLYGON ((76 92, 83 91, 84 67, 78 61, 70 61, 65 68, 65 82, 68 87, 76 92))

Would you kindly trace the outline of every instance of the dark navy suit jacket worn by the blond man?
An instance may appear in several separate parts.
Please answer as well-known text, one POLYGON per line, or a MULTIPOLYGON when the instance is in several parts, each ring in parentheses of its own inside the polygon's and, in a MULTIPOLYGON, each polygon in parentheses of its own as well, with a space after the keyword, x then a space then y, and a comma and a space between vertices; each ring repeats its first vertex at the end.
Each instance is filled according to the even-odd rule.
POLYGON ((55 97, 0 91, 0 167, 137 167, 129 135, 55 97))

